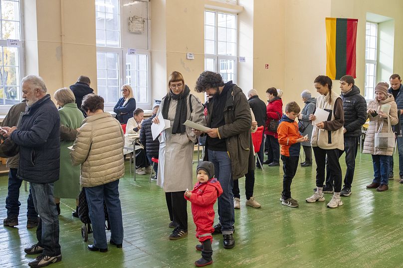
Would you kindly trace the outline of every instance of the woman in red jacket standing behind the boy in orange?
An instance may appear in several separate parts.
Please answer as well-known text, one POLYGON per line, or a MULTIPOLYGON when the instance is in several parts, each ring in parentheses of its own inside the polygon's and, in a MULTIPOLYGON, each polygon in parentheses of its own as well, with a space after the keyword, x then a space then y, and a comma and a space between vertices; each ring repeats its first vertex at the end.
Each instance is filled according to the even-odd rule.
POLYGON ((269 167, 280 166, 280 145, 278 143, 277 131, 270 131, 270 121, 281 119, 283 115, 283 101, 277 95, 276 88, 269 88, 266 90, 269 102, 267 103, 266 109, 266 126, 264 134, 266 134, 266 140, 264 142, 264 150, 268 151, 268 158, 262 164, 268 164, 269 167))

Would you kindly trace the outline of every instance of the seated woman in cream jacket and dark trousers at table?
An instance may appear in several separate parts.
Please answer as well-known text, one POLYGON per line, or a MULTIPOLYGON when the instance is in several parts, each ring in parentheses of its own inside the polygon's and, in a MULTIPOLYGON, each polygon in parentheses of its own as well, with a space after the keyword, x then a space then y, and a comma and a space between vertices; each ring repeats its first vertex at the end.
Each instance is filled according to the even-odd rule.
MULTIPOLYGON (((133 147, 133 142, 139 136, 129 136, 140 134, 141 123, 144 119, 144 111, 137 108, 133 112, 133 117, 127 121, 126 125, 126 137, 125 137, 125 147, 133 147)), ((124 150, 125 154, 131 153, 132 151, 124 150)), ((151 173, 151 166, 148 163, 146 152, 143 145, 138 141, 136 143, 136 174, 145 175, 151 173)))

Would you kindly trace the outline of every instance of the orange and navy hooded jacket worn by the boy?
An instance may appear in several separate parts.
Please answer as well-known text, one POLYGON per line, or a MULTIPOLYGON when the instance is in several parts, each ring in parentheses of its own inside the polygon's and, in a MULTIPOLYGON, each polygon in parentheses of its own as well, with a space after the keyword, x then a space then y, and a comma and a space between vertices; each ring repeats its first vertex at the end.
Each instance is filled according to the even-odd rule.
POLYGON ((302 136, 298 130, 298 123, 284 114, 278 125, 277 133, 278 142, 281 145, 281 155, 299 156, 301 143, 297 142, 297 139, 302 138, 302 136))

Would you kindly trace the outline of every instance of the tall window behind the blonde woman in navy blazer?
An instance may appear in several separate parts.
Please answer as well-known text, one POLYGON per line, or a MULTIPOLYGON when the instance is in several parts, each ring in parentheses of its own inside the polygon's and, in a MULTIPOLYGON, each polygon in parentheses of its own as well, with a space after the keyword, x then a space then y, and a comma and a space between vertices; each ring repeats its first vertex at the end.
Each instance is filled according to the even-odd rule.
POLYGON ((128 55, 128 49, 121 47, 127 26, 121 21, 119 0, 95 0, 95 10, 98 94, 105 98, 106 110, 112 110, 122 96, 124 84, 132 87, 138 106, 149 108, 149 52, 136 50, 128 55))

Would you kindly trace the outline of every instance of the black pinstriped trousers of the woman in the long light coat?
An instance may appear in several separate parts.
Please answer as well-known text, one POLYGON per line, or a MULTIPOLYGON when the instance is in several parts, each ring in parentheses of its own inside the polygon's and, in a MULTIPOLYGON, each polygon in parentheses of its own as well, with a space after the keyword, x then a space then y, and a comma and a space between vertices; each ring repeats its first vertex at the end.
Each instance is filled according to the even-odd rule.
POLYGON ((174 221, 179 228, 188 230, 188 210, 184 193, 185 191, 166 192, 165 199, 170 220, 174 221))

